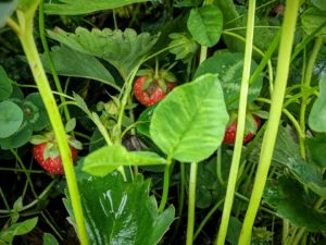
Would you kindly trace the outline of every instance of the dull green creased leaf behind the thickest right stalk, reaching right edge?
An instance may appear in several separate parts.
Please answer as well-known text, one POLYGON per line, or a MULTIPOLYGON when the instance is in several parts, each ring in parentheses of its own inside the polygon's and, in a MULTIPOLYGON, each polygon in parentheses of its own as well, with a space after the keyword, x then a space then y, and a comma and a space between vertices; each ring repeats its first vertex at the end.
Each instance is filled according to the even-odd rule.
MULTIPOLYGON (((250 159, 258 161, 261 139, 252 150, 250 159)), ((299 145, 294 142, 289 127, 279 126, 272 162, 287 168, 293 176, 314 193, 326 197, 326 183, 323 180, 323 168, 313 162, 305 162, 300 157, 299 145)))

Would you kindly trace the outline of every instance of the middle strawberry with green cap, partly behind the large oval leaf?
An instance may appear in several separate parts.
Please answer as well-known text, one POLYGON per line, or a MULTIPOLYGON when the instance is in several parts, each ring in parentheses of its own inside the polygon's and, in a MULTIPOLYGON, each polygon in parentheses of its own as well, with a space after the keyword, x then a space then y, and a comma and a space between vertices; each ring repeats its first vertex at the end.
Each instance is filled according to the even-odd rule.
POLYGON ((158 103, 176 86, 176 77, 168 70, 139 70, 137 76, 134 95, 146 107, 158 103))

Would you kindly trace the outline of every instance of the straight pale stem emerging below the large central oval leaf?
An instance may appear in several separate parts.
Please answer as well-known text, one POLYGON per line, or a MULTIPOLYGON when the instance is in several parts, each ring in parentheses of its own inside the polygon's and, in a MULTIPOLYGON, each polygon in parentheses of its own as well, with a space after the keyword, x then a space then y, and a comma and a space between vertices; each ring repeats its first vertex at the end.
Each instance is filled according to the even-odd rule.
POLYGON ((191 162, 190 179, 189 179, 189 200, 188 200, 188 222, 187 222, 186 245, 192 245, 192 241, 193 241, 197 168, 198 168, 198 163, 191 162))

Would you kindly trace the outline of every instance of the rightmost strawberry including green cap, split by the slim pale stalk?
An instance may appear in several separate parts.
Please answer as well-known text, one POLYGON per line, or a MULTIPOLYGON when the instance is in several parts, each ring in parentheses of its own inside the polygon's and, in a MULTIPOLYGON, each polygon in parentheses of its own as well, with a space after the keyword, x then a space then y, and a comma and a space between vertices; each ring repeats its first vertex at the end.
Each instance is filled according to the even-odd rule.
MULTIPOLYGON (((236 134, 237 134, 237 118, 238 117, 235 112, 230 113, 230 120, 225 128, 225 134, 224 134, 224 138, 223 138, 224 144, 228 144, 228 145, 235 144, 236 134)), ((247 144, 254 137, 254 135, 256 134, 258 130, 261 126, 261 123, 262 123, 262 120, 258 114, 247 113, 243 144, 247 144)))

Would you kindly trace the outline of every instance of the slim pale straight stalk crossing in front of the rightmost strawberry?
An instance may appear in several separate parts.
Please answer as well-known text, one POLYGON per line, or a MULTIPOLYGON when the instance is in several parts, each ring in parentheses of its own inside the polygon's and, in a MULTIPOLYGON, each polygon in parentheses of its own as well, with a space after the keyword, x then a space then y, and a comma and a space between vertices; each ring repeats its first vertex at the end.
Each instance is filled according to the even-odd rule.
POLYGON ((241 159, 242 140, 244 135, 244 123, 246 123, 246 109, 247 109, 247 97, 250 78, 251 68, 251 54, 252 54, 252 41, 253 41, 253 29, 254 29, 254 9, 255 0, 249 1, 248 10, 248 23, 247 23, 247 35, 246 35, 246 50, 244 50, 244 65, 242 72, 242 81, 240 88, 240 101, 238 110, 238 122, 237 122, 237 135, 235 150, 228 176, 225 203, 222 215, 222 223, 218 230, 216 245, 224 245, 227 233, 229 217, 233 208, 235 189, 237 184, 238 170, 241 159))

